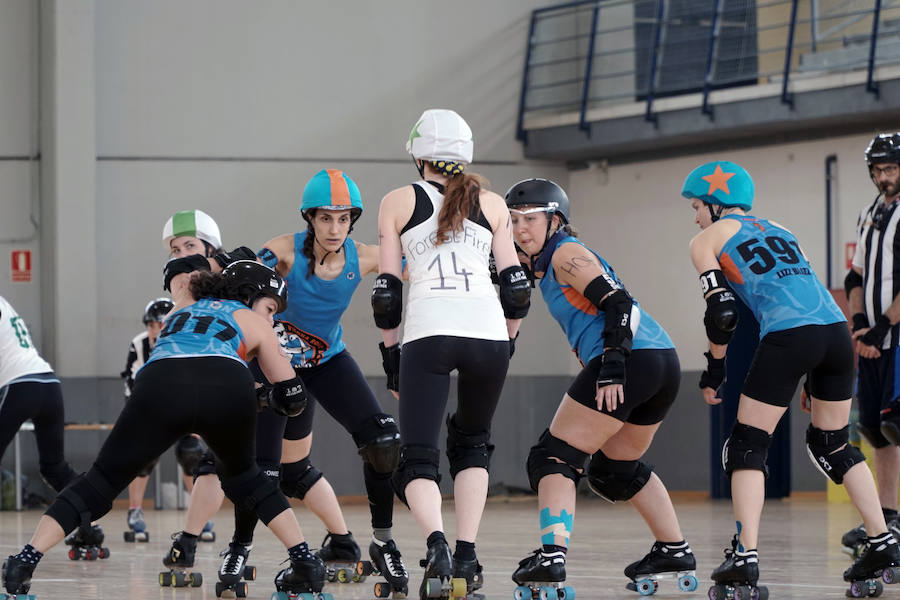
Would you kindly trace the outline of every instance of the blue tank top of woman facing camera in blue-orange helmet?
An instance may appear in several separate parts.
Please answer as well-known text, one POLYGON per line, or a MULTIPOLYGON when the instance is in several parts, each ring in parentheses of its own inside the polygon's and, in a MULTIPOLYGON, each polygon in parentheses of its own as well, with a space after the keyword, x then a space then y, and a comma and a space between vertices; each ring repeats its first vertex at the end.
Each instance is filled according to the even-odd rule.
POLYGON ((305 239, 305 231, 294 234, 294 265, 285 277, 290 300, 287 309, 275 315, 275 330, 295 368, 314 367, 344 350, 341 316, 361 279, 356 244, 350 238, 344 240, 344 270, 340 275, 335 279, 315 274, 307 277, 305 239))

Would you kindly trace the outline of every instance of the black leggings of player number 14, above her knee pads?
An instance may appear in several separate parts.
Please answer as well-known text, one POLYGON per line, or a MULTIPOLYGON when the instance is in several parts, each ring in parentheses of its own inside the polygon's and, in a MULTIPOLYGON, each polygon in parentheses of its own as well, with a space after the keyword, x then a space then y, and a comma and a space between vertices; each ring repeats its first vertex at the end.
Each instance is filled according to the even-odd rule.
POLYGON ((400 358, 400 437, 404 446, 439 447, 450 392, 450 373, 459 372, 456 425, 490 431, 500 401, 509 342, 447 335, 403 344, 400 358))

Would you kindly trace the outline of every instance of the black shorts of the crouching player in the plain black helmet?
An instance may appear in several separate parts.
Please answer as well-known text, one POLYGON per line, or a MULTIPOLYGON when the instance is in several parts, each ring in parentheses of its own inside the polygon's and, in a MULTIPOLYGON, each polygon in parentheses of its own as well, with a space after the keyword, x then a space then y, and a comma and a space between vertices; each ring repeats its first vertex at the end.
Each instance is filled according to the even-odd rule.
POLYGON ((625 402, 610 412, 597 408, 597 373, 601 356, 581 370, 569 386, 569 396, 603 414, 633 425, 655 425, 663 420, 678 395, 681 365, 674 348, 633 350, 625 363, 625 402))

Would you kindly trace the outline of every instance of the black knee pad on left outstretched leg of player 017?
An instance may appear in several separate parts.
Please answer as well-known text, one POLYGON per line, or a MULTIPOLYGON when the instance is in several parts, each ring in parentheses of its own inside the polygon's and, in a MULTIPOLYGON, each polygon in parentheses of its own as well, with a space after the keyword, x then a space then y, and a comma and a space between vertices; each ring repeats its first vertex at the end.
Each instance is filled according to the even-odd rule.
POLYGON ((47 516, 52 517, 66 534, 79 526, 89 526, 112 509, 113 500, 121 489, 116 489, 96 468, 79 475, 57 496, 47 516))

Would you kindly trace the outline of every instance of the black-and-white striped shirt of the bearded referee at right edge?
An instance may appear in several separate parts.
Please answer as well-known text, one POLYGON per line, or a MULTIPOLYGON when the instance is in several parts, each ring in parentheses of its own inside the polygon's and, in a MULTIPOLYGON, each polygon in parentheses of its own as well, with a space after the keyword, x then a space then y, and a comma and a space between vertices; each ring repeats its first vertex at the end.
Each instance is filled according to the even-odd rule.
MULTIPOLYGON (((853 266, 862 269, 863 306, 870 326, 900 293, 898 200, 886 205, 879 195, 860 212, 856 222, 858 238, 853 266)), ((891 327, 882 348, 897 346, 897 337, 897 327, 891 327)))

